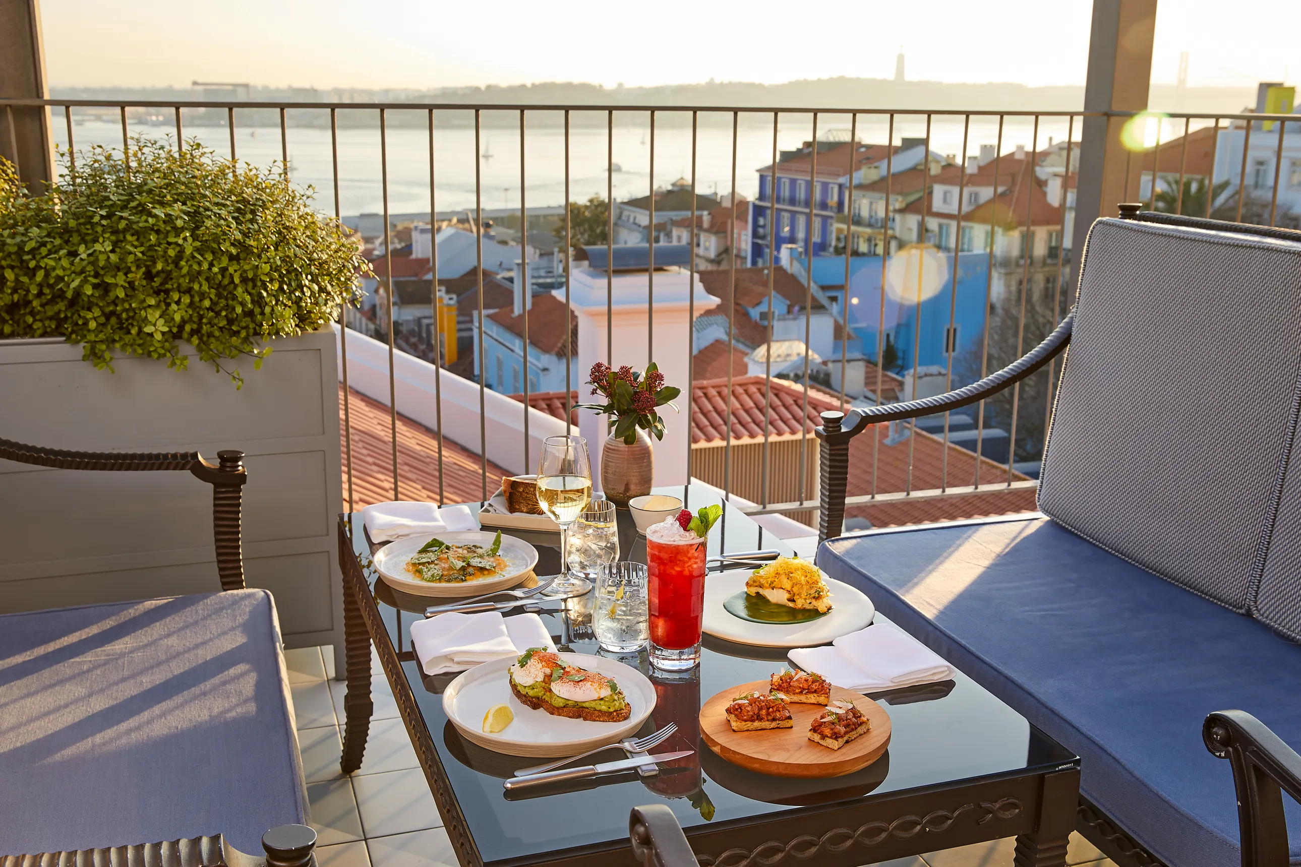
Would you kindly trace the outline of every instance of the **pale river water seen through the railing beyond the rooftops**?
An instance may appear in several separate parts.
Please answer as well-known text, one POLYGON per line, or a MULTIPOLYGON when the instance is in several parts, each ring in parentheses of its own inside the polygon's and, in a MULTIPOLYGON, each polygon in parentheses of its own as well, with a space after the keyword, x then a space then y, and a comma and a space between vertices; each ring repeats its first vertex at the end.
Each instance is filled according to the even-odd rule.
MULTIPOLYGON (((55 112, 55 140, 68 146, 68 130, 61 116, 55 112)), ((622 114, 622 113, 621 113, 622 114)), ((631 114, 617 122, 613 135, 614 195, 630 199, 650 190, 650 136, 645 114, 631 114)), ((696 186, 701 192, 726 194, 731 188, 732 129, 730 121, 701 121, 696 138, 696 186)), ((844 116, 824 116, 820 130, 827 127, 848 131, 844 116)), ((224 126, 183 127, 185 136, 198 138, 221 156, 229 156, 230 139, 224 126)), ((155 138, 172 135, 170 125, 131 123, 131 135, 155 138)), ((809 138, 809 116, 783 116, 778 129, 778 148, 796 148, 809 138)), ((859 139, 883 142, 885 118, 860 116, 859 139)), ((895 142, 902 136, 925 135, 925 118, 903 117, 895 122, 895 142)), ((998 133, 997 118, 972 118, 968 134, 968 152, 974 155, 981 143, 994 143, 998 133)), ((1008 118, 1003 130, 1003 152, 1016 144, 1030 146, 1033 121, 1008 118)), ((1045 118, 1039 127, 1039 147, 1067 134, 1066 118, 1045 118)), ((88 144, 121 147, 122 129, 118 122, 87 118, 73 127, 78 149, 88 144)), ((1075 138, 1079 140, 1080 123, 1076 121, 1075 138)), ((532 126, 527 130, 526 177, 530 207, 559 205, 565 200, 565 133, 557 126, 532 126)), ((316 207, 334 211, 332 181, 330 134, 328 129, 288 129, 289 164, 294 183, 315 188, 316 207)), ((932 125, 932 147, 941 153, 960 156, 963 146, 961 118, 935 118, 932 125)), ((690 126, 657 126, 654 135, 654 182, 669 186, 679 177, 691 178, 690 126)), ((258 165, 271 165, 281 159, 280 129, 277 126, 242 126, 235 123, 235 152, 241 160, 258 165)), ((480 133, 479 183, 483 207, 518 208, 520 191, 520 160, 518 127, 488 127, 480 133)), ((773 129, 769 117, 743 118, 736 139, 736 191, 752 198, 757 190, 756 170, 771 162, 773 129)), ((429 138, 427 129, 390 126, 386 131, 389 212, 410 213, 429 211, 429 138)), ((379 127, 338 130, 338 194, 340 213, 379 213, 384 207, 379 127)), ((436 196, 437 209, 475 207, 475 131, 464 126, 436 127, 436 196)), ((582 200, 592 195, 605 196, 608 165, 608 136, 604 127, 575 126, 570 131, 570 199, 582 200)))

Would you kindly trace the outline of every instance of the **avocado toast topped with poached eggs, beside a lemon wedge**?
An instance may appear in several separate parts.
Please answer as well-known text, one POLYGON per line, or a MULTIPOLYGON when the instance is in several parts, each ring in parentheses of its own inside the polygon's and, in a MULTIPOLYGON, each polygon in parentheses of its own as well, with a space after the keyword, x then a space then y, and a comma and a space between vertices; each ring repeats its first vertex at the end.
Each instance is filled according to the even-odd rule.
POLYGON ((553 716, 622 723, 632 715, 619 685, 605 675, 567 666, 559 654, 530 647, 510 667, 510 692, 526 707, 553 716))

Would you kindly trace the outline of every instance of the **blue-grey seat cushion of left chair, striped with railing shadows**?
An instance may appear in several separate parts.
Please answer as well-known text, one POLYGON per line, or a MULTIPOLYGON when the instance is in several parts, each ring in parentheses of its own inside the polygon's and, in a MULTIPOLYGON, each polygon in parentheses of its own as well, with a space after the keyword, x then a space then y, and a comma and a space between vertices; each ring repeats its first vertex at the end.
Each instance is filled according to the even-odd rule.
POLYGON ((0 855, 307 820, 265 590, 0 616, 0 855))

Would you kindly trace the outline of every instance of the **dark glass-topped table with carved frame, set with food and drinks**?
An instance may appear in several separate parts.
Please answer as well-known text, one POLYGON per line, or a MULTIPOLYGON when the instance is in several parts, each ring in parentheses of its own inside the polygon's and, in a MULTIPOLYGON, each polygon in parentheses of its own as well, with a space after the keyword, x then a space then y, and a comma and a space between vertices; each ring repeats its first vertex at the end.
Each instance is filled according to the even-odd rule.
MULTIPOLYGON (((691 510, 719 502, 712 489, 657 493, 686 495, 691 510)), ((477 512, 476 506, 471 508, 477 512)), ((505 532, 539 549, 537 575, 558 571, 558 534, 505 532)), ((492 753, 466 741, 448 721, 441 693, 455 675, 425 676, 410 643, 411 623, 424 616, 428 604, 445 601, 411 597, 384 584, 371 565, 379 547, 366 536, 359 513, 340 516, 347 642, 343 771, 355 771, 366 749, 373 642, 462 864, 635 864, 628 812, 645 803, 665 803, 674 811, 701 864, 852 867, 1010 836, 1020 837, 1019 864, 1064 863, 1075 827, 1079 759, 967 676, 872 694, 890 714, 892 734, 886 754, 866 768, 821 780, 768 776, 712 753, 700 740, 697 715, 701 702, 716 693, 778 671, 786 651, 705 636, 699 668, 661 673, 649 667, 644 650, 614 655, 598 649, 591 595, 541 603, 556 645, 601 653, 649 676, 657 703, 639 734, 677 723, 678 733, 656 751, 696 754, 662 764, 658 775, 628 771, 507 793, 502 781, 539 759, 492 753)), ((790 552, 729 504, 708 549, 710 556, 760 549, 790 552)), ((644 562, 645 539, 626 511, 619 512, 619 550, 622 559, 644 562)), ((614 758, 622 753, 595 760, 614 758)))

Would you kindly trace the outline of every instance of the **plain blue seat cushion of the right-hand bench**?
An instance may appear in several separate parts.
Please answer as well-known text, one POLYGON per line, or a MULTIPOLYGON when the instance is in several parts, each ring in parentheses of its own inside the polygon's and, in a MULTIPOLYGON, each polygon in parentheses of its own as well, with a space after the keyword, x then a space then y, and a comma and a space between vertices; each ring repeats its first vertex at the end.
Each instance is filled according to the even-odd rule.
POLYGON ((1202 720, 1245 710, 1301 747, 1301 646, 1042 516, 831 539, 817 562, 1073 750, 1085 797, 1166 863, 1241 863, 1202 720))

